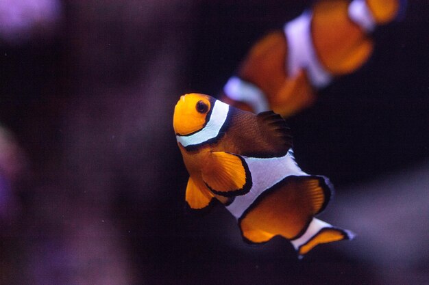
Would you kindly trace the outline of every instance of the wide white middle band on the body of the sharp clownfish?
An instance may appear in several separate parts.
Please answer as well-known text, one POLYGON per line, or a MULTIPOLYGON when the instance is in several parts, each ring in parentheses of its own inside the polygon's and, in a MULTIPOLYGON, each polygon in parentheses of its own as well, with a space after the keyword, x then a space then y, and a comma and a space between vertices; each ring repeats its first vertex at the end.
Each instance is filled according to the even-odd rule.
POLYGON ((252 188, 246 195, 236 196, 234 202, 226 206, 228 211, 237 219, 265 190, 273 187, 287 176, 308 176, 303 172, 293 158, 293 151, 284 157, 273 157, 269 159, 257 159, 254 157, 243 157, 252 174, 252 188), (269 171, 267 171, 269 169, 269 171))

